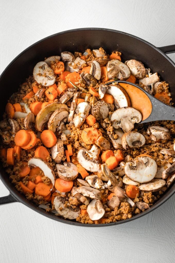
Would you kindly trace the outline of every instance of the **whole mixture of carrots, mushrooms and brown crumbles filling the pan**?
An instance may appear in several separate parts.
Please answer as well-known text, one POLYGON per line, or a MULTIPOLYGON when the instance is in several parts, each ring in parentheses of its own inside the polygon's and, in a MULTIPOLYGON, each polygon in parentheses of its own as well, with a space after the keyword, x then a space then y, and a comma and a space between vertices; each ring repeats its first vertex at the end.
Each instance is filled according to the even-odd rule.
POLYGON ((8 100, 3 166, 15 188, 48 213, 86 224, 131 218, 175 179, 174 123, 139 124, 127 84, 117 81, 171 105, 168 83, 142 62, 121 59, 103 48, 45 58, 8 100))

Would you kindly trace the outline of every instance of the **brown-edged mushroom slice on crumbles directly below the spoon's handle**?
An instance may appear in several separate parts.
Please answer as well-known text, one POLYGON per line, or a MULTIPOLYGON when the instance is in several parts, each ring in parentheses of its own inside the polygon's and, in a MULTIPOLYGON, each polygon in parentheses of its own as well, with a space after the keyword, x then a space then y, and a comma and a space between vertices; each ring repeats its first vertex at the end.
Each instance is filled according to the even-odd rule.
POLYGON ((149 126, 147 129, 147 134, 151 135, 150 138, 153 141, 170 139, 169 130, 160 126, 149 126))

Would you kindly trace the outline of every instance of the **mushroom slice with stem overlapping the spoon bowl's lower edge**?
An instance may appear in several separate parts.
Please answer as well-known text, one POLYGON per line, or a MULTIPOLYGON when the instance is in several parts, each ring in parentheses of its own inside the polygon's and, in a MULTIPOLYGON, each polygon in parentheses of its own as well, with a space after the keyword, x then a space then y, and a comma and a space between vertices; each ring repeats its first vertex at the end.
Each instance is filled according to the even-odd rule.
POLYGON ((110 120, 115 129, 122 128, 124 132, 128 132, 134 128, 135 123, 141 122, 142 115, 138 110, 132 107, 124 107, 115 110, 110 120))

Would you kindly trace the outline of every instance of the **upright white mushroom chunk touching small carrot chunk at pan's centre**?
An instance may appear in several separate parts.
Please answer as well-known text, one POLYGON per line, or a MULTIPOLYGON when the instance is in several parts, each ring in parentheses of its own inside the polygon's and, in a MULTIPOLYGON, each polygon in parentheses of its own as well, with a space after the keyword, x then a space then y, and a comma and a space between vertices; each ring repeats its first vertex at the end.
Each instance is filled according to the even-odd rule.
POLYGON ((84 123, 85 119, 88 117, 89 110, 91 106, 87 102, 81 102, 77 105, 75 110, 76 115, 73 118, 73 123, 75 124, 76 128, 80 128, 81 125, 84 123))

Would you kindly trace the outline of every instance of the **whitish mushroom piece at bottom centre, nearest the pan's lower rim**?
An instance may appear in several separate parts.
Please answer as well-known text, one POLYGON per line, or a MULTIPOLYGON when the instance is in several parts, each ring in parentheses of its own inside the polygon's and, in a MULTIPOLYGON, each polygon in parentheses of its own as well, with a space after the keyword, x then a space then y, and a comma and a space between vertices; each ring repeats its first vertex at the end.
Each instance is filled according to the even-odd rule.
POLYGON ((92 200, 91 203, 87 207, 87 213, 91 220, 99 220, 105 214, 104 207, 100 200, 92 200))

